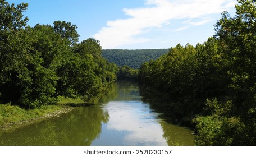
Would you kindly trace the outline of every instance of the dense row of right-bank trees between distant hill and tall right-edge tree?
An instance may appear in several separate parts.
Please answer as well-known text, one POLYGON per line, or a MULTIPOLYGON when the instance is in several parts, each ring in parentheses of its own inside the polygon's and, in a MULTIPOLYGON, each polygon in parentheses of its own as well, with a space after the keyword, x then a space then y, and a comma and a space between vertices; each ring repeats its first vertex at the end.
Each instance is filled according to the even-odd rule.
POLYGON ((217 52, 211 49, 217 49, 213 38, 196 47, 178 44, 156 61, 144 63, 140 82, 163 99, 171 100, 176 116, 193 118, 202 111, 206 98, 223 90, 223 80, 216 79, 218 73, 214 73, 217 52))

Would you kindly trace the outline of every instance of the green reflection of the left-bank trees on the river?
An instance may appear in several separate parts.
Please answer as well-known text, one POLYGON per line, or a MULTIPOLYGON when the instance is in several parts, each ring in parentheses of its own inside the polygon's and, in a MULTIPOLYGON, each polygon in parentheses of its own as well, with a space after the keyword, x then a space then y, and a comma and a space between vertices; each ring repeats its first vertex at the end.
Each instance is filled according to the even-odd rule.
POLYGON ((100 105, 76 107, 61 117, 3 134, 0 145, 90 145, 108 119, 100 105))

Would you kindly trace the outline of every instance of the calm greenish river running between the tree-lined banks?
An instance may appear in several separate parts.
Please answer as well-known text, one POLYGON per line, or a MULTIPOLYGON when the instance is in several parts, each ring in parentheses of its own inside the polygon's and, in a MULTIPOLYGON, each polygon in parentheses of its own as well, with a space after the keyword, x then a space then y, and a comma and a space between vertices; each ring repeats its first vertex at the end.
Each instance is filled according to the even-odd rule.
POLYGON ((173 123, 168 105, 149 99, 135 82, 117 82, 97 104, 0 131, 0 145, 194 145, 193 130, 173 123))

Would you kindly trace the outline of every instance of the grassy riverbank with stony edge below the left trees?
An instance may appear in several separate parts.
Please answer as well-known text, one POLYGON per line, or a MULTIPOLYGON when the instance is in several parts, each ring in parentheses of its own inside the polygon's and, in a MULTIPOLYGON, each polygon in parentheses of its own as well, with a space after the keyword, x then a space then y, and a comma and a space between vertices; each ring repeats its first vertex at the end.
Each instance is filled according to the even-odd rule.
POLYGON ((26 110, 15 105, 0 104, 0 130, 9 130, 25 124, 38 122, 45 118, 59 117, 70 112, 72 108, 67 104, 84 103, 80 98, 60 97, 56 105, 44 105, 40 108, 26 110))

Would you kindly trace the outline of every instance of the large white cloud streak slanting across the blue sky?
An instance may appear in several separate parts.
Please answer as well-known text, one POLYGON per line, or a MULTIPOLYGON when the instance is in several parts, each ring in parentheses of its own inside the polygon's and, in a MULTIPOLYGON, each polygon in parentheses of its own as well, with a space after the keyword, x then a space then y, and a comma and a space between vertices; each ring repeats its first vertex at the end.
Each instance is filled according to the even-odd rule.
MULTIPOLYGON (((234 7, 236 0, 146 0, 141 8, 124 8, 128 19, 107 21, 107 26, 93 35, 100 40, 103 49, 117 48, 122 45, 146 43, 151 39, 139 38, 141 34, 148 33, 154 28, 161 28, 171 23, 171 20, 189 19, 190 25, 203 25, 209 20, 192 22, 195 18, 221 13, 228 8, 234 7)), ((181 26, 181 31, 188 26, 181 26)))

